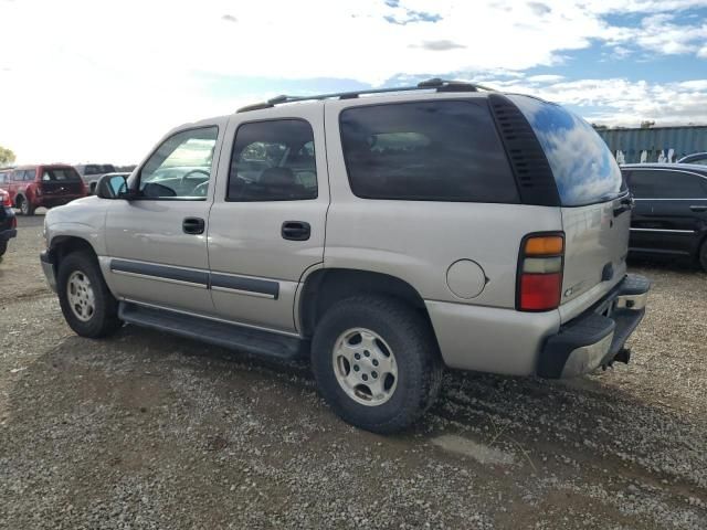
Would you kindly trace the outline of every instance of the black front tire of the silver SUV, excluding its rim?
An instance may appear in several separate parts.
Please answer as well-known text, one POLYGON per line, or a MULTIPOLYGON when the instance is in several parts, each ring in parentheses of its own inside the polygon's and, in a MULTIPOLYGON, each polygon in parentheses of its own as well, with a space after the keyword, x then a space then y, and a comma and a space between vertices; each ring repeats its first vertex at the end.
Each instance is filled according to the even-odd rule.
POLYGON ((64 318, 76 335, 95 339, 106 337, 122 326, 118 319, 118 301, 108 290, 94 255, 87 252, 74 252, 64 257, 59 264, 56 292, 64 318), (87 320, 76 316, 68 300, 68 278, 75 272, 85 275, 93 290, 94 310, 87 320))

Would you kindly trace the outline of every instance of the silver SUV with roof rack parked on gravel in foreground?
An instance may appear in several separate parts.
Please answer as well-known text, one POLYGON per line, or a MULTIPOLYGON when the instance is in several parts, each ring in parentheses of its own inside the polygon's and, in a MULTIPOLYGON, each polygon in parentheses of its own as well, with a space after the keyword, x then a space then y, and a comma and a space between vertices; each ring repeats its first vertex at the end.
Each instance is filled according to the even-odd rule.
POLYGON ((627 361, 648 282, 592 127, 432 80, 281 96, 169 132, 46 215, 68 325, 124 322, 291 359, 344 420, 410 425, 444 365, 568 378, 627 361), (376 94, 372 94, 376 92, 376 94))

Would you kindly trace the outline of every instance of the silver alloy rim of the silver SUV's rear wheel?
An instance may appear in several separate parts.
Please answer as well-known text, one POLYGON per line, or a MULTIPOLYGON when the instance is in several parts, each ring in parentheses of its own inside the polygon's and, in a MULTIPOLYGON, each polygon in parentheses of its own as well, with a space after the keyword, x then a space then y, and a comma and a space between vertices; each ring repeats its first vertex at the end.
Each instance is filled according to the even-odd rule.
POLYGON ((333 361, 341 390, 357 403, 379 406, 393 396, 398 386, 395 356, 376 331, 344 331, 335 342, 333 361))

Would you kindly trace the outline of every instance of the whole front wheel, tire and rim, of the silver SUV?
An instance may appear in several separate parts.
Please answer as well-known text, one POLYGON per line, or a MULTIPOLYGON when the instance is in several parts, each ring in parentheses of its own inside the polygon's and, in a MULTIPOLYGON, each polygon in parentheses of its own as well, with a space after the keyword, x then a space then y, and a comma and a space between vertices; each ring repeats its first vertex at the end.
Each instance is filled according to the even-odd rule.
POLYGON ((91 254, 75 252, 60 262, 56 290, 64 318, 77 335, 105 337, 120 327, 118 303, 91 254))

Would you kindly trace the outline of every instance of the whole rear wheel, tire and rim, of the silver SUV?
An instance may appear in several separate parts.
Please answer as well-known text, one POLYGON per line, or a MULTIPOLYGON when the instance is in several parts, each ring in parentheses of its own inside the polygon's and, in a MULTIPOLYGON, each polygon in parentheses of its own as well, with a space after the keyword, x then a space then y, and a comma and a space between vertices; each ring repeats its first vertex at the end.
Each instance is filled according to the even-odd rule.
POLYGON ((442 382, 430 325, 411 307, 379 296, 341 300, 324 315, 312 368, 329 406, 346 422, 377 433, 411 425, 442 382))

